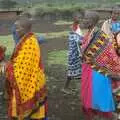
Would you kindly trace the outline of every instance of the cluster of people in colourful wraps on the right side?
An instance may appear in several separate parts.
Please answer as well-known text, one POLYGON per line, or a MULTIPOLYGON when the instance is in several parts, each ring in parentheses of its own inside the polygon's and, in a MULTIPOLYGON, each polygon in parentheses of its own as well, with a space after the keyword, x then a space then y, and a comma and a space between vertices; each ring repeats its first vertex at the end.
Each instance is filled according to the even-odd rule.
POLYGON ((86 12, 83 35, 75 20, 69 34, 68 73, 64 92, 78 76, 81 103, 86 120, 95 115, 120 120, 120 11, 98 27, 99 15, 86 12))

